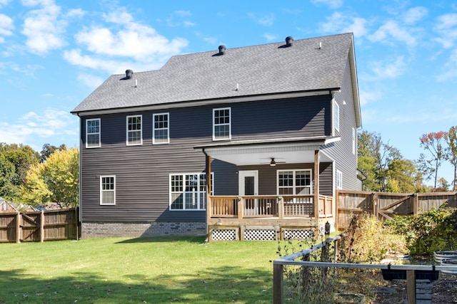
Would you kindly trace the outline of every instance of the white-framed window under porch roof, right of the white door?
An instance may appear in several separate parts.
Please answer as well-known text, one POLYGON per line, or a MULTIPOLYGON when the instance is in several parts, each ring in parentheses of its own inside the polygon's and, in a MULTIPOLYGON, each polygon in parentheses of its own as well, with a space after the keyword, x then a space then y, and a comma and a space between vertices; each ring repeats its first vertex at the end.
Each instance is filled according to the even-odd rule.
MULTIPOLYGON (((311 169, 278 171, 278 195, 312 194, 311 169)), ((311 203, 311 197, 286 199, 286 201, 311 203)))

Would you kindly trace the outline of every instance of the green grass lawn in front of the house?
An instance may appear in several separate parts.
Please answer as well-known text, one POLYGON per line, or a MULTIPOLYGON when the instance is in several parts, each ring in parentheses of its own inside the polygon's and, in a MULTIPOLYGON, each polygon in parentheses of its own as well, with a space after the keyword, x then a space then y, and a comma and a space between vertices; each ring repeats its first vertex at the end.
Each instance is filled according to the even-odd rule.
POLYGON ((271 303, 276 241, 0 243, 0 303, 271 303))

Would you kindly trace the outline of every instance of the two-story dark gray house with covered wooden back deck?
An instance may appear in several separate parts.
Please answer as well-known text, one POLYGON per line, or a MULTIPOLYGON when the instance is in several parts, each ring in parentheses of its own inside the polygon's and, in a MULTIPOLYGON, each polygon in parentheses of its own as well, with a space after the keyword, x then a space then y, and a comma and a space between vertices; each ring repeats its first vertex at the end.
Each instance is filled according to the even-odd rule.
POLYGON ((83 237, 299 237, 361 189, 352 33, 173 56, 72 113, 83 237))

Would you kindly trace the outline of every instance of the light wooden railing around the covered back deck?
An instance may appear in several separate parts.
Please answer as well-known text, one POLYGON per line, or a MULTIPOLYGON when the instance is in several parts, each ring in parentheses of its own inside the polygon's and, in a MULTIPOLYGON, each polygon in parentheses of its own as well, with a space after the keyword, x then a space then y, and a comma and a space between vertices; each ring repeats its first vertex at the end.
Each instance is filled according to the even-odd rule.
MULTIPOLYGON (((332 216, 332 206, 333 197, 319 195, 318 216, 332 216)), ((210 218, 314 217, 314 196, 210 196, 208 212, 210 218)))

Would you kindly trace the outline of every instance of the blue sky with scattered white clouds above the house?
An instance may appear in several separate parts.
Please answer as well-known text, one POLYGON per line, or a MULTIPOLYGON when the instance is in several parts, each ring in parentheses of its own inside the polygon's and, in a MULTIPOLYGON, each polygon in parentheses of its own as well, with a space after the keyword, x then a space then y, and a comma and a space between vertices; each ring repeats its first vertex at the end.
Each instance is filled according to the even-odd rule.
MULTIPOLYGON (((0 0, 0 142, 78 145, 69 112, 111 74, 183 53, 353 32, 363 130, 417 159, 457 125, 457 3, 0 0)), ((439 174, 451 182, 451 165, 439 174)))

